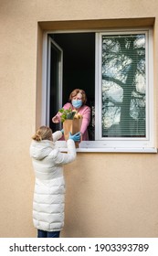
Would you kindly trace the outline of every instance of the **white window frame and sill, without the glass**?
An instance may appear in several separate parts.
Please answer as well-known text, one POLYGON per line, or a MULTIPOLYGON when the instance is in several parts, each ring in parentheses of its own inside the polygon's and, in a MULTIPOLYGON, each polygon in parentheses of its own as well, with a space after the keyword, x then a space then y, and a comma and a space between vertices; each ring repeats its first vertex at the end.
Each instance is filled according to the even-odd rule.
MULTIPOLYGON (((43 95, 42 124, 47 116, 47 34, 54 33, 94 32, 96 34, 95 52, 95 141, 84 141, 79 144, 78 152, 126 152, 157 153, 154 138, 154 97, 153 97, 153 29, 151 27, 132 29, 112 29, 95 31, 52 31, 46 32, 43 43, 43 95), (146 137, 145 138, 101 138, 101 37, 116 34, 146 34, 146 137), (98 123, 99 125, 96 125, 98 123)), ((67 151, 64 141, 58 141, 61 151, 67 151)))

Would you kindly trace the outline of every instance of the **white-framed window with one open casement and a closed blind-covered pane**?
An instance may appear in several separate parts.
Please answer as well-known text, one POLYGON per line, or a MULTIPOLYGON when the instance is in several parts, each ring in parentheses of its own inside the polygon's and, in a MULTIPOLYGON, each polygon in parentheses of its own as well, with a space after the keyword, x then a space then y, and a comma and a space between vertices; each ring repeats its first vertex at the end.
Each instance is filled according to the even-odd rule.
MULTIPOLYGON (((67 83, 68 86, 72 83, 68 80, 71 76, 76 83, 72 89, 83 89, 88 98, 90 96, 90 141, 82 142, 78 151, 156 152, 153 140, 151 28, 49 33, 44 49, 48 56, 45 63, 47 82, 44 84, 46 91, 49 91, 45 93, 47 101, 44 107, 47 125, 51 126, 51 116, 67 101, 65 93, 61 94, 68 91, 67 83), (60 52, 63 54, 63 65, 60 52), (62 66, 63 73, 58 71, 62 66), (83 76, 85 84, 81 80, 83 76), (64 85, 58 80, 63 80, 64 85), (81 86, 78 86, 78 81, 81 86)), ((65 146, 64 142, 58 144, 62 148, 65 146)))

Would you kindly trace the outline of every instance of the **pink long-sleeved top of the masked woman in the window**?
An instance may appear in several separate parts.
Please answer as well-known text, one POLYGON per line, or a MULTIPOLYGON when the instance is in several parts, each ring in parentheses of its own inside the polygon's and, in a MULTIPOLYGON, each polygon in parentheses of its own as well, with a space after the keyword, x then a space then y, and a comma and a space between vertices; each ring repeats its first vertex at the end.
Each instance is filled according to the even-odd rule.
MULTIPOLYGON (((72 106, 71 103, 66 103, 63 108, 65 110, 68 110, 71 108, 72 110, 75 110, 75 108, 72 106)), ((79 108, 78 112, 82 115, 83 120, 80 128, 80 133, 82 133, 82 141, 89 141, 89 133, 88 133, 88 126, 90 123, 90 107, 83 105, 79 108)), ((58 116, 60 114, 58 113, 58 116)))

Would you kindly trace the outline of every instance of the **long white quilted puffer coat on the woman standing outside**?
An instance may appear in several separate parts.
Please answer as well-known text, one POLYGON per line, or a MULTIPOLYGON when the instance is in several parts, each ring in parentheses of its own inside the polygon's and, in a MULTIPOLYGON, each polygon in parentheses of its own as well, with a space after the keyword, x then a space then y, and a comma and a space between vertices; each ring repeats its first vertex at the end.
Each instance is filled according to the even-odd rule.
POLYGON ((53 142, 32 141, 30 155, 35 170, 36 183, 33 201, 33 222, 37 229, 57 231, 64 226, 65 180, 63 165, 76 158, 76 148, 68 140, 68 154, 59 152, 55 142, 62 136, 53 133, 53 142))

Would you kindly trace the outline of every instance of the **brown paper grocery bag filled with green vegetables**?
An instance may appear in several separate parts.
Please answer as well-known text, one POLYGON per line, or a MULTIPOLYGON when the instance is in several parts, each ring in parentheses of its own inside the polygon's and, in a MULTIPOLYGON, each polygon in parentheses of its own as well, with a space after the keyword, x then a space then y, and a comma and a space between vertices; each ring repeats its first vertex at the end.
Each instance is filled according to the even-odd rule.
MULTIPOLYGON (((69 132, 71 134, 79 133, 82 123, 82 115, 77 111, 71 110, 71 108, 68 110, 62 108, 58 112, 61 113, 61 123, 63 123, 64 137, 67 141, 69 132)), ((76 147, 79 147, 79 142, 76 142, 75 144, 76 147)))

